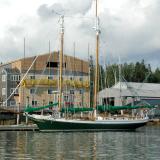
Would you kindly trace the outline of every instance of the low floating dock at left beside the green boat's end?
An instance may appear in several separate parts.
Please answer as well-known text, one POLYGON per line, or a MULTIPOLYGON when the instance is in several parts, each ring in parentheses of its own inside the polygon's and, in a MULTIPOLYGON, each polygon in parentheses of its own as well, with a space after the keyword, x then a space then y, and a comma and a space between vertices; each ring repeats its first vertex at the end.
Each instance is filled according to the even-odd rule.
POLYGON ((38 131, 36 125, 0 125, 0 131, 38 131))

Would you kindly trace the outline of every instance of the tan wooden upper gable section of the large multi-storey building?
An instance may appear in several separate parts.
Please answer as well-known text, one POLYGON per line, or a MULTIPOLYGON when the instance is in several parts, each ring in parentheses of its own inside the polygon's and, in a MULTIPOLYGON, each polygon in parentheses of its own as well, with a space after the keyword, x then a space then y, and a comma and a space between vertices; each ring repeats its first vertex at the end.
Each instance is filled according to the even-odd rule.
MULTIPOLYGON (((63 68, 65 70, 65 73, 70 72, 73 73, 73 75, 77 74, 78 76, 87 76, 89 72, 88 67, 88 61, 69 55, 64 55, 63 57, 63 68)), ((59 52, 52 52, 52 54, 41 54, 37 57, 26 57, 25 59, 22 58, 16 61, 0 65, 0 69, 3 68, 17 68, 21 71, 21 73, 26 73, 30 68, 30 72, 38 72, 37 74, 39 74, 39 72, 41 73, 43 70, 47 72, 47 70, 50 68, 51 70, 54 70, 55 73, 55 71, 57 71, 59 68, 59 52), (34 61, 35 58, 36 61, 34 61)))

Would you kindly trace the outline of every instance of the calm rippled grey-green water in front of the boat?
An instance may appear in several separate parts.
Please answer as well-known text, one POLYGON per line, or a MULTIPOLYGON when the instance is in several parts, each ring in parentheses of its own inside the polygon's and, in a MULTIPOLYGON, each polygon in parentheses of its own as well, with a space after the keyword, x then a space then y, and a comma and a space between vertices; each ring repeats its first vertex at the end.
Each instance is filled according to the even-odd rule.
POLYGON ((159 160, 160 126, 137 132, 0 132, 0 160, 159 160))

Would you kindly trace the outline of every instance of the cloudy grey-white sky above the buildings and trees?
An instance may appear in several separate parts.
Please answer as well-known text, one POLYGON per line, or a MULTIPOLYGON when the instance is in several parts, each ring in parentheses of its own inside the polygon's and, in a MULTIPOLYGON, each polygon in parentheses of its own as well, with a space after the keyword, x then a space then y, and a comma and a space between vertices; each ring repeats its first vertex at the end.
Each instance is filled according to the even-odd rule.
MULTIPOLYGON (((95 0, 0 0, 0 62, 59 50, 64 14, 64 53, 95 55, 95 0), (75 48, 74 48, 75 43, 75 48), (89 51, 88 51, 89 46, 89 51)), ((160 0, 98 0, 100 63, 145 60, 159 67, 160 0)))

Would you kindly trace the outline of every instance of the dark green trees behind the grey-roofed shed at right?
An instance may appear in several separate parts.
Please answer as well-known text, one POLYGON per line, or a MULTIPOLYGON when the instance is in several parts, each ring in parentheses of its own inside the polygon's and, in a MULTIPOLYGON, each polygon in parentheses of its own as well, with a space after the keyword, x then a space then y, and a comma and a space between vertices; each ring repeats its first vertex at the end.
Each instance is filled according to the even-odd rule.
POLYGON ((144 60, 124 63, 121 66, 112 64, 106 68, 99 67, 99 90, 113 86, 119 79, 120 81, 125 79, 127 82, 160 83, 160 69, 156 68, 155 71, 152 71, 150 64, 145 64, 144 60), (121 68, 120 76, 119 68, 121 68))

